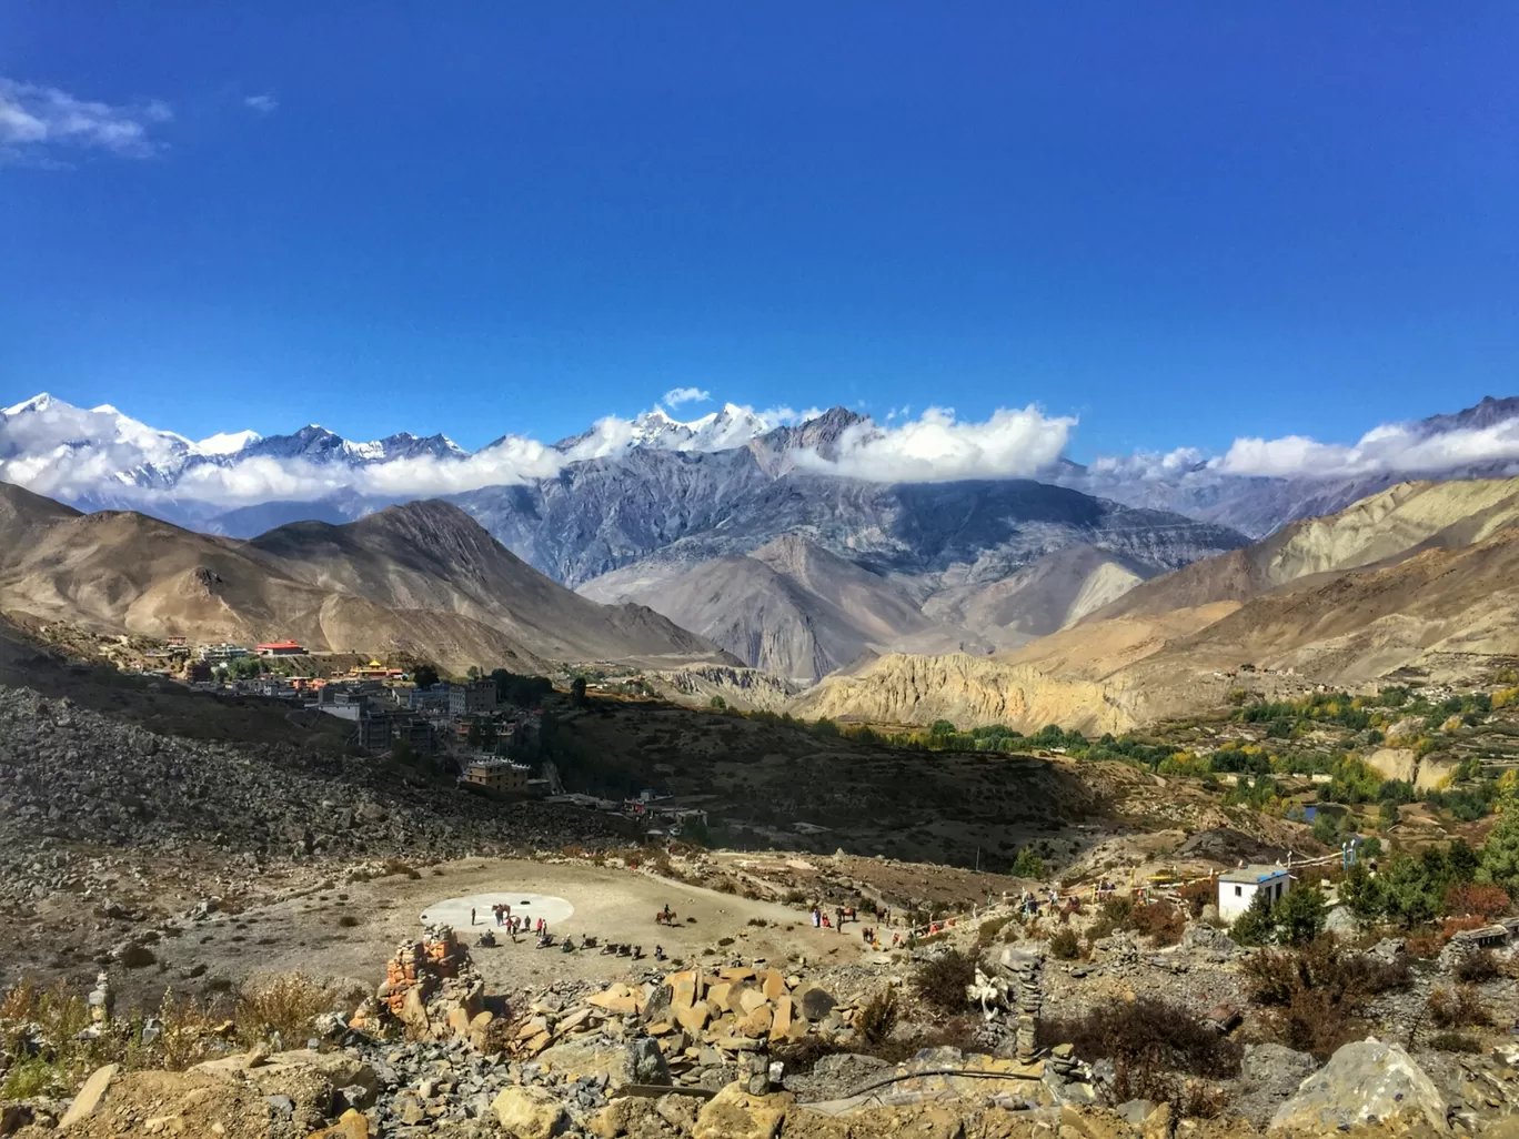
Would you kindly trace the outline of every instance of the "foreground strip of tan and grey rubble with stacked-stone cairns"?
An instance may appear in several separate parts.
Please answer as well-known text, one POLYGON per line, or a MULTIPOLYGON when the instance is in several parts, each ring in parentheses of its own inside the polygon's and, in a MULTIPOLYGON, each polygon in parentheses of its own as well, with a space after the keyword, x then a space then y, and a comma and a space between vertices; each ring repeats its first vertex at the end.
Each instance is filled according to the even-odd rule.
MULTIPOLYGON (((898 1062, 880 1055, 872 1022, 883 1007, 875 986, 884 981, 887 995, 896 987, 858 966, 804 975, 764 961, 712 961, 673 973, 646 969, 606 989, 557 983, 507 998, 486 992, 471 951, 441 928, 398 946, 384 983, 357 1007, 304 1019, 310 1037, 295 1049, 278 1031, 235 1048, 226 1042, 231 1022, 118 1021, 103 981, 79 1036, 117 1046, 115 1059, 73 1096, 0 1106, 0 1134, 1519 1136, 1519 1055, 1461 1055, 1426 1071, 1375 1037, 1338 1048, 1328 1063, 1249 1045, 1238 1077, 1188 1080, 1170 1100, 1115 1103, 1121 1072, 1112 1063, 1083 1063, 1071 1045, 1041 1043, 1044 967, 1027 951, 983 957, 968 998, 986 1016, 971 1039, 898 1062), (197 1063, 134 1071, 147 1054, 197 1063), (1188 1115, 1186 1103, 1206 1110, 1188 1115)), ((0 1060, 6 1069, 27 1065, 27 1048, 38 1055, 49 1048, 39 1025, 27 1037, 26 1025, 18 1031, 0 1013, 0 1030, 17 1042, 0 1060)))

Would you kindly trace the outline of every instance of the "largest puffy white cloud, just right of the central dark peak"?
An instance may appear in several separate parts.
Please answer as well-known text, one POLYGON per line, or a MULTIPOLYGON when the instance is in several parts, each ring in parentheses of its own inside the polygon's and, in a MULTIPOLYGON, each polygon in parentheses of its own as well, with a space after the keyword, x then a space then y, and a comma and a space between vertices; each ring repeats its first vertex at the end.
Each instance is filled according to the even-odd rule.
POLYGON ((876 483, 946 483, 958 478, 1031 477, 1065 451, 1075 419, 1051 418, 1037 407, 1000 407, 983 424, 962 422, 954 410, 930 407, 893 427, 870 421, 845 428, 837 460, 799 451, 799 468, 876 483))

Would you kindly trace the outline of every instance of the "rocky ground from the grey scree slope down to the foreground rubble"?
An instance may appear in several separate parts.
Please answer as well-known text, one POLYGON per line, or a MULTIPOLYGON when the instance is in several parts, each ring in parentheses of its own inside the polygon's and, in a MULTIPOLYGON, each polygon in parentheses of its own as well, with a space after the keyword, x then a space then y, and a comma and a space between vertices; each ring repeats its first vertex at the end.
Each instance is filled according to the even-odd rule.
MULTIPOLYGON (((1112 787, 1089 781, 1083 796, 1121 803, 1167 790, 1130 771, 1088 773, 1112 787)), ((1240 843, 1294 837, 1243 835, 1176 799, 1164 809, 1174 834, 1077 828, 1072 843, 1088 866, 1165 866, 1209 861, 1198 820, 1230 857, 1240 843)), ((422 770, 299 740, 161 735, 0 689, 0 1080, 12 1090, 0 1134, 1519 1134, 1519 1055, 1504 1028, 1519 984, 1507 957, 1470 986, 1498 1022, 1466 1033, 1475 1051, 1434 1046, 1429 995, 1455 984, 1446 954, 1416 960, 1364 1011, 1378 1040, 1315 1059, 1276 1042, 1270 1010, 1249 1001, 1252 951, 1206 922, 1162 945, 1100 929, 1086 908, 1068 923, 1080 943, 1071 957, 1051 940, 1062 926, 1013 916, 1004 894, 1022 885, 843 852, 644 850, 603 817, 488 803, 422 770), (568 907, 556 939, 636 943, 641 957, 504 935, 478 946, 485 913, 477 929, 424 932, 422 916, 445 899, 526 891, 568 907), (816 929, 814 902, 895 916, 816 929), (667 905, 677 920, 656 925, 667 905), (893 946, 908 914, 948 925, 893 946), (869 923, 880 951, 858 937, 869 923), (655 945, 667 960, 653 960, 655 945), (1000 993, 990 1019, 969 993, 946 1013, 919 992, 922 970, 951 951, 1000 993), (1028 981, 1016 963, 1030 960, 1042 961, 1036 1043, 1018 1019, 1028 981), (257 1019, 249 993, 296 970, 310 980, 292 992, 314 1002, 278 1027, 257 1019), (61 981, 76 1019, 35 990, 23 999, 23 977, 61 981), (114 1005, 93 1027, 91 989, 114 1005), (1110 1059, 1056 1039, 1151 996, 1192 1016, 1238 1013, 1218 1037, 1240 1048, 1238 1068, 1130 1100, 1110 1059)), ((1363 949, 1407 957, 1388 939, 1363 949)))

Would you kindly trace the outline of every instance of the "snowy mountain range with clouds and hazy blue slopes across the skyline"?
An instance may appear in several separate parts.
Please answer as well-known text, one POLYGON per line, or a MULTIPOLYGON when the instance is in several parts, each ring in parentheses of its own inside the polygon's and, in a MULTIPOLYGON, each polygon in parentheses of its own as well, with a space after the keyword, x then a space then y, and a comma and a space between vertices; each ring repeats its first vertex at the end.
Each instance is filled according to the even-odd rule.
POLYGON ((1352 445, 1240 439, 1218 457, 1180 448, 1080 465, 1063 456, 1069 425, 1033 409, 998 412, 986 424, 930 412, 883 425, 842 407, 782 419, 725 404, 691 421, 655 407, 551 445, 504 434, 471 453, 442 434, 349 440, 316 424, 193 440, 109 404, 81 409, 44 393, 0 410, 0 480, 82 509, 143 509, 219 530, 228 512, 351 518, 410 498, 535 486, 583 463, 747 448, 769 478, 794 469, 886 484, 1033 477, 1256 538, 1407 478, 1519 472, 1519 398, 1382 425, 1352 445))

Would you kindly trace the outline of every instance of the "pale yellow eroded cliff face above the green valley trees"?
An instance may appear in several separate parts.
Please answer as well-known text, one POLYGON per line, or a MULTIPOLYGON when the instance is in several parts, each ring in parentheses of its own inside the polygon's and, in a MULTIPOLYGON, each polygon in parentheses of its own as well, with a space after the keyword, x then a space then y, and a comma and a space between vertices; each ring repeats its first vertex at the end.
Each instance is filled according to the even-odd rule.
POLYGON ((858 673, 825 679, 791 711, 869 723, 1007 724, 1022 732, 1057 723, 1089 735, 1126 732, 1145 715, 1142 694, 1123 680, 1053 676, 1031 665, 965 653, 892 653, 858 673))

